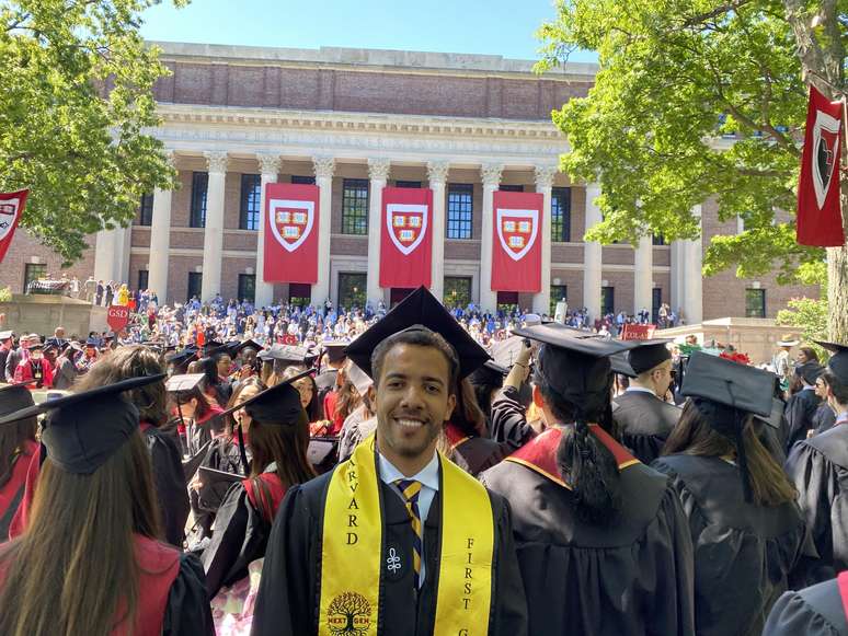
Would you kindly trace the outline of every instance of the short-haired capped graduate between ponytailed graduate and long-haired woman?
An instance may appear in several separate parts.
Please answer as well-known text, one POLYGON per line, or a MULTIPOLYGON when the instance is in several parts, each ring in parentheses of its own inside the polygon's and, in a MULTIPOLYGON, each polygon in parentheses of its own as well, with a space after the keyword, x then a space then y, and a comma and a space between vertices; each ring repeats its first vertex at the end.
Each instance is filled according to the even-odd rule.
POLYGON ((612 369, 630 378, 627 390, 612 401, 612 419, 621 443, 640 462, 650 464, 660 456, 680 419, 680 409, 665 401, 672 384, 672 352, 666 340, 643 340, 637 348, 614 357, 612 369))

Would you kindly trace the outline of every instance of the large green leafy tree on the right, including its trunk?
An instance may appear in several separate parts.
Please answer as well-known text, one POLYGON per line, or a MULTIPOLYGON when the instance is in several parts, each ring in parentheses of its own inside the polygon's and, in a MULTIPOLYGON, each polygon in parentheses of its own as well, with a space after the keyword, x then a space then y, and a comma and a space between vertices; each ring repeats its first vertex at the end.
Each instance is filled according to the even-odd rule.
MULTIPOLYGON (((800 140, 806 82, 844 96, 847 9, 847 0, 558 0, 558 19, 539 32, 539 70, 577 48, 599 58, 588 95, 553 113, 572 150, 563 170, 601 187, 604 222, 588 236, 694 239, 692 208, 714 198, 721 219, 741 217, 744 231, 712 240, 707 275, 735 265, 738 276, 777 270, 791 281, 801 265, 823 263, 824 250, 794 240, 800 140)), ((827 262, 832 337, 848 340, 848 250, 828 250, 827 262)))

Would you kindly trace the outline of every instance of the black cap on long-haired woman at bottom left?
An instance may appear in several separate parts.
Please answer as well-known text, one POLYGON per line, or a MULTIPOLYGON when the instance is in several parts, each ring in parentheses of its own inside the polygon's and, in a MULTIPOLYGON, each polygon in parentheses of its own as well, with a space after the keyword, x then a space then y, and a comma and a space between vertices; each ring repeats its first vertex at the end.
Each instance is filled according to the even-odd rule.
POLYGON ((50 461, 69 473, 90 475, 138 428, 138 408, 122 394, 163 379, 142 375, 48 400, 0 417, 0 425, 49 413, 42 442, 50 461))

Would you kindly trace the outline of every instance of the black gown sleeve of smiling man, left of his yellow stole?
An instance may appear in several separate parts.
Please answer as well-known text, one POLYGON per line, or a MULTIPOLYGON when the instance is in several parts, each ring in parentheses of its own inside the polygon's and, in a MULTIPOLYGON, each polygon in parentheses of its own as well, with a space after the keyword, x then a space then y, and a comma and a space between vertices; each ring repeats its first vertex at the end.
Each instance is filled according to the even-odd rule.
POLYGON ((314 633, 319 521, 302 486, 286 493, 277 511, 262 566, 253 636, 302 636, 314 633))

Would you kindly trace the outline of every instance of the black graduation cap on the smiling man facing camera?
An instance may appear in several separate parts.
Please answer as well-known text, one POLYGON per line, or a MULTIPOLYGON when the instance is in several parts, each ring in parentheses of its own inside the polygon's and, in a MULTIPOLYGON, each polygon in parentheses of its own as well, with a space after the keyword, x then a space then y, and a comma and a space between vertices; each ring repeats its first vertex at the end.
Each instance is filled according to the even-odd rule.
POLYGON ((478 369, 489 354, 463 329, 426 287, 419 287, 386 316, 347 346, 347 357, 374 378, 371 352, 382 340, 410 327, 426 327, 442 335, 457 352, 459 378, 478 369))

